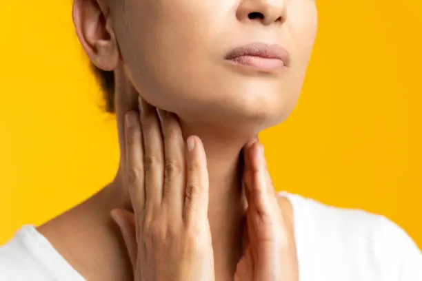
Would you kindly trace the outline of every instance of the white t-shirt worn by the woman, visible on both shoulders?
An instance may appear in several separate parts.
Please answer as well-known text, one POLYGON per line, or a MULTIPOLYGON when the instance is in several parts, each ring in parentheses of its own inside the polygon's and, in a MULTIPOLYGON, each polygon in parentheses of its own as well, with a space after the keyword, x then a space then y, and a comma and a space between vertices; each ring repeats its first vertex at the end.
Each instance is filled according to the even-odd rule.
MULTIPOLYGON (((301 281, 422 281, 422 253, 383 216, 283 193, 293 206, 301 281)), ((0 248, 0 281, 85 281, 34 227, 0 248)))

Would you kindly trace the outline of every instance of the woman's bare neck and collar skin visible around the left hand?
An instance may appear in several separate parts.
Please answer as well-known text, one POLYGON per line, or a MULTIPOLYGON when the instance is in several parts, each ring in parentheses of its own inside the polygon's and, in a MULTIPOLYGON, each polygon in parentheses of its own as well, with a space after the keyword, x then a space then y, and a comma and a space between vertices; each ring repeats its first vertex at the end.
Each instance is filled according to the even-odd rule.
MULTIPOLYGON (((117 127, 121 163, 110 185, 83 204, 39 227, 54 247, 88 280, 131 280, 132 267, 116 225, 110 224, 114 208, 132 209, 125 186, 123 121, 137 110, 138 93, 130 83, 117 83, 117 127), (119 104, 121 103, 121 104, 119 104), (77 231, 75 231, 77 229, 77 231), (94 269, 103 268, 104 271, 94 269)), ((214 265, 218 280, 232 280, 241 254, 245 198, 241 189, 241 149, 249 138, 221 127, 180 121, 183 136, 197 135, 207 154, 210 183, 210 221, 214 265)))

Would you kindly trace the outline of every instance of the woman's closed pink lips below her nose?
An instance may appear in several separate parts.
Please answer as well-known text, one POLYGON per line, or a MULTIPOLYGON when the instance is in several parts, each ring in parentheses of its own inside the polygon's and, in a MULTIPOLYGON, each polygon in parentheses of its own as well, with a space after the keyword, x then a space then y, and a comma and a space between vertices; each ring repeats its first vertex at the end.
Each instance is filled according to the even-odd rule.
POLYGON ((251 43, 231 50, 225 59, 259 70, 281 70, 290 64, 290 54, 280 45, 251 43))

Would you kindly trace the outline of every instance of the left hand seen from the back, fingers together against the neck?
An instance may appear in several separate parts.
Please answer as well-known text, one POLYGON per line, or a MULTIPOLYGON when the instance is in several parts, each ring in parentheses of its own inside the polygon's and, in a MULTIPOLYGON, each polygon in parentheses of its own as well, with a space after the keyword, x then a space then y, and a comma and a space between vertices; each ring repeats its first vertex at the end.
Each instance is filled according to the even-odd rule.
POLYGON ((125 171, 134 214, 112 211, 134 280, 214 281, 201 140, 190 136, 186 151, 177 117, 140 104, 141 117, 129 112, 125 120, 125 171))

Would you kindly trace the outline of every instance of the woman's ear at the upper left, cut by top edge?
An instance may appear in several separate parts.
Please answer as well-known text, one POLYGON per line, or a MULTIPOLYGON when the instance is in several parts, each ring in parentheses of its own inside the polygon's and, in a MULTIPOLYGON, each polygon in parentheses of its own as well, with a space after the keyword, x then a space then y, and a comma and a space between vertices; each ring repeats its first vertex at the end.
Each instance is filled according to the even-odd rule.
POLYGON ((114 70, 120 54, 109 8, 100 6, 97 0, 74 0, 72 18, 77 37, 92 63, 101 70, 114 70))

